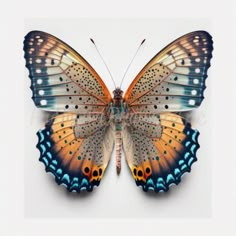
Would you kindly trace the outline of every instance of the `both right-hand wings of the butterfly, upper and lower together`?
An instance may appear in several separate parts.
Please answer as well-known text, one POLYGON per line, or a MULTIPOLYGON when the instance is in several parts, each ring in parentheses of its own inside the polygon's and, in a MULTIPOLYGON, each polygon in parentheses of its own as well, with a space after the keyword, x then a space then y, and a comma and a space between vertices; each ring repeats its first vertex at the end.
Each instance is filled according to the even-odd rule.
POLYGON ((145 191, 167 191, 197 160, 199 132, 170 112, 201 104, 212 45, 205 31, 180 37, 147 63, 125 93, 125 156, 137 185, 145 191))

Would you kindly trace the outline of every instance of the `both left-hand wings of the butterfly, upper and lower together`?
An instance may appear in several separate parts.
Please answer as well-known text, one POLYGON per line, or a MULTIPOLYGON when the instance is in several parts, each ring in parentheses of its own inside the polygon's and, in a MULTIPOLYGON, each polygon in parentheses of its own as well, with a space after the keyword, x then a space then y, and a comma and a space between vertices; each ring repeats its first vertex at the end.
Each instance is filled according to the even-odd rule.
POLYGON ((40 161, 69 191, 92 191, 114 145, 111 95, 88 62, 60 39, 32 31, 25 37, 24 51, 35 105, 64 112, 37 133, 40 161))

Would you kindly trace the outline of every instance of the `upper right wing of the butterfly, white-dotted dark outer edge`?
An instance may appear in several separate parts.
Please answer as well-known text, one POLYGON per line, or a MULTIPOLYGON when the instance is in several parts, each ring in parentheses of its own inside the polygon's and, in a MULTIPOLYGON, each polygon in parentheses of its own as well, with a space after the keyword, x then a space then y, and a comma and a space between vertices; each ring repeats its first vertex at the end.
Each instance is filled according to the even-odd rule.
POLYGON ((186 111, 203 100, 213 42, 205 31, 186 34, 155 55, 125 93, 133 112, 186 111))

